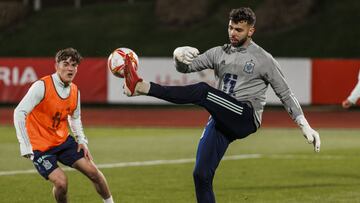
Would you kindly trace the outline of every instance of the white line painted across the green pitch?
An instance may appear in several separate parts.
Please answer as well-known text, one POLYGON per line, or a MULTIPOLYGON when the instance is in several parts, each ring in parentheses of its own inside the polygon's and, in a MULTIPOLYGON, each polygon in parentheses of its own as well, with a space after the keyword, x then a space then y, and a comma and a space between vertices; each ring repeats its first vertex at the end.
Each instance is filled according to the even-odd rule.
MULTIPOLYGON (((240 160, 240 159, 343 159, 342 156, 310 156, 310 155, 263 155, 263 154, 242 154, 224 156, 222 160, 240 160)), ((135 161, 135 162, 120 162, 112 164, 97 164, 98 168, 124 168, 133 166, 156 166, 156 165, 168 165, 168 164, 184 164, 194 163, 195 159, 174 159, 174 160, 152 160, 152 161, 135 161)), ((73 171, 74 169, 65 167, 65 171, 73 171)), ((0 171, 0 176, 18 175, 18 174, 33 174, 37 173, 35 169, 29 170, 15 170, 15 171, 0 171)))

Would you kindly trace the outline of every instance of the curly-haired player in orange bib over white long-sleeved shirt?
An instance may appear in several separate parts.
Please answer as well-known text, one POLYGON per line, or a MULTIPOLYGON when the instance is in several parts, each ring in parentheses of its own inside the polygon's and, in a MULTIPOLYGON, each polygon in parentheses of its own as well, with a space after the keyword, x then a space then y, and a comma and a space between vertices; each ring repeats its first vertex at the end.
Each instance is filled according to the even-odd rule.
POLYGON ((52 75, 36 81, 14 111, 14 125, 23 157, 53 184, 57 202, 67 202, 67 177, 57 162, 77 169, 94 184, 105 203, 113 203, 104 175, 87 147, 80 119, 80 92, 72 83, 82 57, 73 48, 57 52, 52 75), (67 121, 75 139, 69 135, 67 121))

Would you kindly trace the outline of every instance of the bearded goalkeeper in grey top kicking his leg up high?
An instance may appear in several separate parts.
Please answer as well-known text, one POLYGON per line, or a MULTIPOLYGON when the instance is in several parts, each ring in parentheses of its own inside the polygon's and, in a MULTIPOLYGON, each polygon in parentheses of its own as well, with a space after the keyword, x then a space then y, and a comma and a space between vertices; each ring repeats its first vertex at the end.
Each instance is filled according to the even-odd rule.
POLYGON ((291 92, 277 61, 252 41, 255 14, 250 8, 230 12, 230 44, 214 47, 203 54, 193 47, 174 51, 176 69, 182 73, 213 69, 217 89, 206 83, 188 86, 161 86, 140 78, 129 56, 126 58, 124 93, 148 95, 176 104, 192 103, 211 115, 200 138, 193 172, 197 201, 215 202, 213 178, 228 145, 254 133, 261 124, 265 92, 270 85, 290 117, 299 125, 316 152, 320 151, 319 134, 304 117, 299 102, 291 92))

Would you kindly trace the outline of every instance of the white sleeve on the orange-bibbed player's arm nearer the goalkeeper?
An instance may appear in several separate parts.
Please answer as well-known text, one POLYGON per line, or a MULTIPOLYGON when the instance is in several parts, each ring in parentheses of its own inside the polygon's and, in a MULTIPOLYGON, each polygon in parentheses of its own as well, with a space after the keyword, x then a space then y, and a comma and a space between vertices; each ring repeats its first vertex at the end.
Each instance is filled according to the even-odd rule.
POLYGON ((78 92, 78 101, 76 109, 72 115, 68 116, 68 122, 71 131, 73 132, 77 142, 79 144, 88 144, 88 140, 85 136, 82 122, 81 122, 81 106, 80 106, 80 91, 78 92))

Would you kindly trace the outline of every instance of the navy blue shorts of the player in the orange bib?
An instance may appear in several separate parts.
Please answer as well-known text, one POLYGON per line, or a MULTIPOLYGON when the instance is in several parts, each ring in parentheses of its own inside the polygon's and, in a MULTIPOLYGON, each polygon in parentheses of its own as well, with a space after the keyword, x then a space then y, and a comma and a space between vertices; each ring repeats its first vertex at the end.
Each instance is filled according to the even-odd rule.
POLYGON ((69 135, 66 141, 59 146, 44 152, 35 150, 33 163, 39 174, 48 180, 49 174, 59 167, 58 161, 71 167, 77 160, 84 157, 83 150, 77 152, 77 149, 78 143, 69 135))

